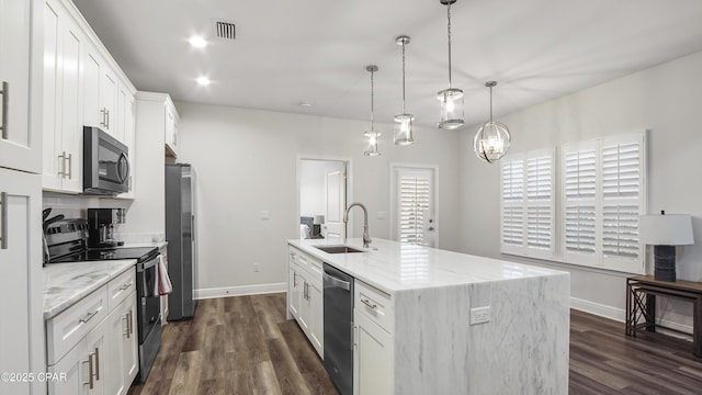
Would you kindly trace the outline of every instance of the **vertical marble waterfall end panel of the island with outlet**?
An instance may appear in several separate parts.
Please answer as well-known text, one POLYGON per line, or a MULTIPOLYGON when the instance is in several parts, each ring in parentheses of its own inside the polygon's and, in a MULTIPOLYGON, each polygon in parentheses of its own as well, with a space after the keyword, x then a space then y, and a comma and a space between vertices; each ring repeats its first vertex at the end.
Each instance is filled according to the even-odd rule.
POLYGON ((394 392, 567 394, 569 294, 567 273, 397 292, 394 392))

